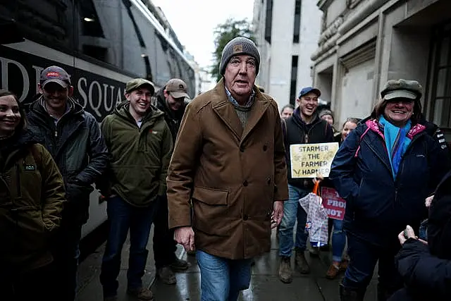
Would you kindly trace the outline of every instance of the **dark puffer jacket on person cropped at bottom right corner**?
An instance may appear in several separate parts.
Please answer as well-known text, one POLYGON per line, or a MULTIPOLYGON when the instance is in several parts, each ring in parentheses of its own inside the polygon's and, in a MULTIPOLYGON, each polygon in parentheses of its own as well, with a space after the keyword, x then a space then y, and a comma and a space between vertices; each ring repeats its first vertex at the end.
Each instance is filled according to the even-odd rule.
POLYGON ((428 245, 407 240, 395 258, 405 288, 389 301, 445 301, 451 296, 451 173, 435 191, 428 245))

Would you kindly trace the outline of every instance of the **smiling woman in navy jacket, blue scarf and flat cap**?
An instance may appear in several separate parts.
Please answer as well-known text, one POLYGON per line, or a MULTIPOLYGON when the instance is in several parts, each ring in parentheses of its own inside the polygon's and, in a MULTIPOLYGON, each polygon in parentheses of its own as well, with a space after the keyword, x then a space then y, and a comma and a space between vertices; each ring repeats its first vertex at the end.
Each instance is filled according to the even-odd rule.
POLYGON ((370 118, 343 142, 330 178, 347 208, 350 264, 340 284, 342 301, 363 300, 378 262, 378 300, 402 287, 395 269, 397 234, 418 228, 427 216, 424 199, 450 168, 443 138, 421 118, 421 85, 390 80, 370 118))

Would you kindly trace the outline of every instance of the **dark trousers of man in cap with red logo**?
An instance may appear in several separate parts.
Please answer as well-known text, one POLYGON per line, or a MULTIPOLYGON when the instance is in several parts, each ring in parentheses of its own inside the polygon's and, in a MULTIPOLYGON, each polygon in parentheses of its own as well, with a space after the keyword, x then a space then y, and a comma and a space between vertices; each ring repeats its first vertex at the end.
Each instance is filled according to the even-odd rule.
POLYGON ((68 216, 62 219, 61 227, 52 238, 51 269, 58 275, 54 278, 54 293, 59 300, 75 300, 81 235, 82 225, 68 216))

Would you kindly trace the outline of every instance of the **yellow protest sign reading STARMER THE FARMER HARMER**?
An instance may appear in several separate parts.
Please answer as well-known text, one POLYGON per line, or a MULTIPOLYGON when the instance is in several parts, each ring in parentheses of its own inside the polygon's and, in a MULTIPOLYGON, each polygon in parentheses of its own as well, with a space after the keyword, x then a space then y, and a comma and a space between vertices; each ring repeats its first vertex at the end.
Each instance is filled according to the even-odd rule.
POLYGON ((292 178, 328 177, 338 142, 290 145, 292 178))

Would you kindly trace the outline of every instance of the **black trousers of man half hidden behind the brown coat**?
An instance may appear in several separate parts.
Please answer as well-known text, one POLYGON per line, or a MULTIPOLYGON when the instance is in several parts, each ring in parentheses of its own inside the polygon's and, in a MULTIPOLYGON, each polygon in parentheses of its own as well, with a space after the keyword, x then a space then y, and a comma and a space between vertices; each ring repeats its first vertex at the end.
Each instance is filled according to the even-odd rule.
POLYGON ((168 197, 160 198, 159 208, 154 218, 154 259, 156 269, 168 266, 175 261, 177 242, 174 240, 174 231, 169 230, 168 224, 168 197))

